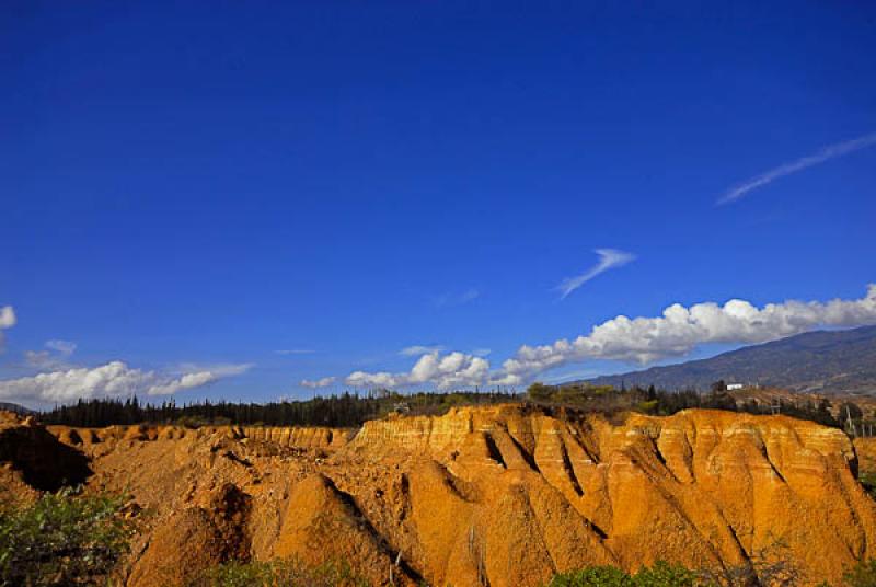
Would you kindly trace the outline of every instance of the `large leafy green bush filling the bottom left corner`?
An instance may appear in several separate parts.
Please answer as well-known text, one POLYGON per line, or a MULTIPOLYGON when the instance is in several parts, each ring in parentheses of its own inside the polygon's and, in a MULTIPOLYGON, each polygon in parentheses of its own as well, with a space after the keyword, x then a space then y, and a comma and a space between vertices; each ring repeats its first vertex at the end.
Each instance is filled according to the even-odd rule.
POLYGON ((0 585, 97 585, 127 552, 124 497, 65 488, 24 507, 0 508, 0 585))

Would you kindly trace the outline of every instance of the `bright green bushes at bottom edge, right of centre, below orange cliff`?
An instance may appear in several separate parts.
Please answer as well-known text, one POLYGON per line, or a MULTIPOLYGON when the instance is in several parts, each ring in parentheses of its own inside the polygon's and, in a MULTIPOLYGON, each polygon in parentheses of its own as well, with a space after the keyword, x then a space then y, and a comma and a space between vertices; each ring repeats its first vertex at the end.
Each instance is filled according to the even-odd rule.
POLYGON ((633 575, 612 566, 595 566, 554 576, 549 587, 700 587, 712 585, 680 565, 657 562, 633 575))

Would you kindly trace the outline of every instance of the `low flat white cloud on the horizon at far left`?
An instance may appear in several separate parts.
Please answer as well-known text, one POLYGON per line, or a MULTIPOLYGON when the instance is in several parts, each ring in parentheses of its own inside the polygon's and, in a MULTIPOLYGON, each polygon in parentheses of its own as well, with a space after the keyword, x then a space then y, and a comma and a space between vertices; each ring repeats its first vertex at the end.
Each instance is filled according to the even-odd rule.
POLYGON ((131 394, 168 395, 240 375, 251 365, 222 365, 209 370, 161 373, 114 360, 99 367, 77 367, 33 377, 0 380, 0 399, 67 403, 79 399, 131 394))

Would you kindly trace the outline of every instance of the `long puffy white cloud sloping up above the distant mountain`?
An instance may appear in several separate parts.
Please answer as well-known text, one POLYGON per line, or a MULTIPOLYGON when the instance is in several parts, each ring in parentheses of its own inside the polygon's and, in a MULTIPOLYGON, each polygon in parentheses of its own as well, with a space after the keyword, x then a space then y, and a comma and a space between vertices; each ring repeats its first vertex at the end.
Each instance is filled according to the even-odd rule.
POLYGON ((673 303, 656 318, 619 315, 574 341, 521 346, 503 364, 494 382, 519 384, 535 373, 587 359, 615 359, 647 364, 683 356, 706 343, 764 343, 818 326, 856 326, 876 323, 876 285, 857 300, 828 302, 796 300, 757 308, 745 300, 673 303))

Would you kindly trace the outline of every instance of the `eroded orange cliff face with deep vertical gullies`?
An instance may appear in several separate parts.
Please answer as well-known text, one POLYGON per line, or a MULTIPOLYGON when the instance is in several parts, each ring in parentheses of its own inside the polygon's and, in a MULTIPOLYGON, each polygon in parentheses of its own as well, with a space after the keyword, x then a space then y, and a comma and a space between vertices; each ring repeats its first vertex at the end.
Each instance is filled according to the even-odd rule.
POLYGON ((128 487, 157 513, 131 585, 159 567, 289 555, 343 559, 374 584, 392 574, 396 585, 457 586, 765 559, 787 561, 807 585, 876 556, 876 505, 855 481, 852 444, 784 416, 687 411, 613 425, 506 405, 369 422, 355 436, 53 431, 93 456, 90 485, 128 487), (245 507, 217 502, 229 486, 222 495, 245 507))

